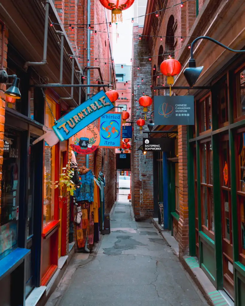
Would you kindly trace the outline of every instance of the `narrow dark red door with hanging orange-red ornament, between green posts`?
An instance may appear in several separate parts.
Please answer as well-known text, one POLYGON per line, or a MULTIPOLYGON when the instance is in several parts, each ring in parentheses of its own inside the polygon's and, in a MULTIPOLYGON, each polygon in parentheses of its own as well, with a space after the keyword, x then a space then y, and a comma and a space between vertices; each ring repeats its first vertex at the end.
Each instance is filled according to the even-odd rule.
POLYGON ((222 214, 222 261, 223 286, 234 298, 233 252, 232 252, 232 212, 229 161, 229 139, 224 135, 220 141, 220 197, 222 214))

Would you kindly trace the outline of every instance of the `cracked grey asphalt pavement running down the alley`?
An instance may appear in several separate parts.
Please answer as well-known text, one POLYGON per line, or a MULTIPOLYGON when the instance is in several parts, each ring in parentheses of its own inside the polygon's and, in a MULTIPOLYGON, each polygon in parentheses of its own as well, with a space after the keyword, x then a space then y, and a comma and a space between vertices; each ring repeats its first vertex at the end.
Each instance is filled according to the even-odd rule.
POLYGON ((127 196, 120 196, 110 235, 96 257, 76 269, 59 305, 208 304, 153 224, 135 222, 127 196))

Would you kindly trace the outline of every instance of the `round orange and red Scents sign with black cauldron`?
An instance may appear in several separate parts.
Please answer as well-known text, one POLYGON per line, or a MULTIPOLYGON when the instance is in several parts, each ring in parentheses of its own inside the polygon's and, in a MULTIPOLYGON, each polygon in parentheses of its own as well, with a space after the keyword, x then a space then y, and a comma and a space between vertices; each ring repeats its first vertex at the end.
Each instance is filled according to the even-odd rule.
POLYGON ((100 132, 93 123, 86 126, 80 132, 69 139, 69 144, 74 152, 78 154, 90 154, 100 144, 100 132))

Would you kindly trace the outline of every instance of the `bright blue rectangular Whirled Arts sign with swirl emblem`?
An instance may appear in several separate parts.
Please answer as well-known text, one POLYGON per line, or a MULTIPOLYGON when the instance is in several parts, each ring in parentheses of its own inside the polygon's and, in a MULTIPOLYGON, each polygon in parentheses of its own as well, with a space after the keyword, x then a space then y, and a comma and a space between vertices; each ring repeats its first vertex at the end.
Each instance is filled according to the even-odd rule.
POLYGON ((108 112, 100 117, 100 147, 120 148, 122 142, 122 114, 108 112))

